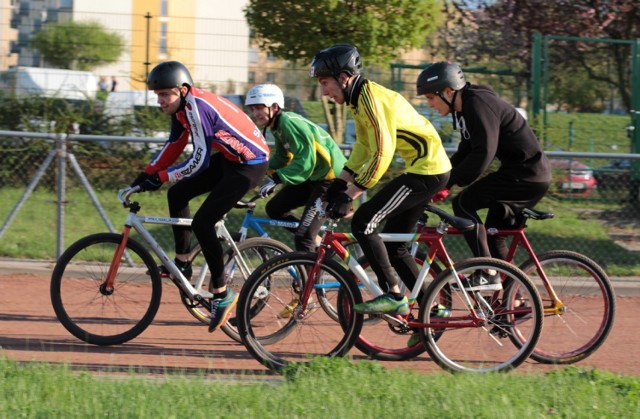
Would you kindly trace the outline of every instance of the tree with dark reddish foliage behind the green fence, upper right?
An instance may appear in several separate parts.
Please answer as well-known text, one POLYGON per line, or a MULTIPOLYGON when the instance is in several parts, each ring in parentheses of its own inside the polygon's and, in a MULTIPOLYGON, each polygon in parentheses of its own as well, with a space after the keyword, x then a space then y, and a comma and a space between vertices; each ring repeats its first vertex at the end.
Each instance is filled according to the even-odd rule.
MULTIPOLYGON (((458 56, 470 61, 491 58, 529 68, 534 33, 615 40, 640 38, 637 0, 456 0, 450 6, 453 7, 446 9, 451 12, 448 15, 464 16, 465 24, 454 27, 464 36, 449 36, 448 40, 460 41, 464 50, 457 51, 458 56)), ((446 42, 443 44, 446 46, 446 42)), ((629 44, 621 43, 554 40, 550 63, 556 63, 558 70, 572 63, 592 82, 617 89, 629 110, 630 49, 629 44), (603 62, 611 65, 602 65, 603 62)), ((554 71, 552 66, 550 69, 554 71)), ((571 73, 558 71, 550 74, 550 80, 555 82, 568 75, 571 73)))

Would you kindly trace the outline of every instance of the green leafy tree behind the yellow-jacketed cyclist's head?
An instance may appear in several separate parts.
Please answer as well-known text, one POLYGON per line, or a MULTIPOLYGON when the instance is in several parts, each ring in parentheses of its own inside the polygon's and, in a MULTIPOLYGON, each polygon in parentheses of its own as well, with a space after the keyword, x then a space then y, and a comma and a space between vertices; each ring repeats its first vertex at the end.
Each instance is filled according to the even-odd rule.
MULTIPOLYGON (((420 47, 439 8, 438 0, 250 0, 244 12, 259 48, 277 58, 308 66, 318 51, 350 43, 366 70, 420 47)), ((323 105, 331 135, 342 139, 346 107, 323 105)))

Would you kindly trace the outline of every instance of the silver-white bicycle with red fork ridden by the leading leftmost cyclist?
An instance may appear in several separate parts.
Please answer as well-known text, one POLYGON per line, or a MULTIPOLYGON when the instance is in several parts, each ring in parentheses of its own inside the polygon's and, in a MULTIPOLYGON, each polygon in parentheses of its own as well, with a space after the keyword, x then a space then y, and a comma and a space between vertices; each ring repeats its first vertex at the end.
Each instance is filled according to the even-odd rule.
MULTIPOLYGON (((154 258, 139 241, 130 237, 131 229, 160 259, 178 287, 180 300, 202 323, 209 323, 212 294, 207 285, 206 264, 194 272, 193 284, 176 267, 144 224, 191 225, 191 219, 141 216, 141 206, 131 202, 140 188, 125 188, 118 199, 129 209, 121 234, 97 233, 73 243, 58 259, 50 294, 54 311, 62 325, 75 337, 95 345, 117 345, 142 333, 153 321, 160 306, 162 279, 154 258)), ((225 251, 225 280, 236 289, 255 266, 277 254, 290 252, 282 243, 268 238, 252 238, 235 243, 224 220, 216 224, 216 234, 229 248, 225 251)), ((200 254, 199 246, 192 258, 200 254)), ((232 339, 240 336, 230 319, 222 330, 232 339)))

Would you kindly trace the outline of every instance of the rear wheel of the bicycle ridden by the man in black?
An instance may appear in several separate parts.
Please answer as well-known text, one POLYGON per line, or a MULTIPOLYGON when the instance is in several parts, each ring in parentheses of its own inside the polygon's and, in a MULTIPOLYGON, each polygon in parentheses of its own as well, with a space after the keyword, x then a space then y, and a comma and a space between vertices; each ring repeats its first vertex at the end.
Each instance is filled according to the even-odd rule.
POLYGON ((538 260, 564 308, 554 310, 535 263, 523 263, 520 267, 540 290, 545 309, 544 328, 531 357, 544 364, 582 361, 604 343, 613 327, 616 298, 611 281, 596 262, 577 252, 551 250, 538 260))

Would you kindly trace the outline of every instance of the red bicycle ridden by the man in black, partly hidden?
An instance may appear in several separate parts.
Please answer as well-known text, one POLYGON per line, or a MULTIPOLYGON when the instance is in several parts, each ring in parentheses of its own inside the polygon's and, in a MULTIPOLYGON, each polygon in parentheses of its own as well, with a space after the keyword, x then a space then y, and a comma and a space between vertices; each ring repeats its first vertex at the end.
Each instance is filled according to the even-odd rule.
MULTIPOLYGON (((545 364, 572 364, 587 358, 606 340, 615 317, 615 294, 604 270, 588 257, 568 250, 535 254, 525 235, 526 222, 553 216, 553 213, 525 209, 513 229, 488 229, 487 234, 513 238, 506 259, 508 262, 513 263, 519 248, 527 254, 528 259, 519 268, 538 288, 545 315, 545 327, 531 358, 545 364)), ((427 220, 428 215, 425 214, 418 222, 417 234, 437 236, 437 229, 441 227, 426 226, 427 220)), ((462 235, 463 232, 464 229, 456 226, 447 231, 450 235, 462 235)), ((425 244, 429 246, 428 241, 425 244)), ((416 254, 415 247, 412 252, 416 254)), ((430 257, 431 253, 418 252, 416 260, 420 263, 430 257)), ((435 272, 440 269, 438 265, 432 268, 435 272)), ((404 336, 409 333, 406 330, 367 332, 365 337, 363 331, 356 347, 374 359, 407 360, 425 350, 421 345, 409 345, 404 336)), ((505 335, 497 329, 494 333, 508 336, 516 345, 520 344, 518 334, 505 335)))

